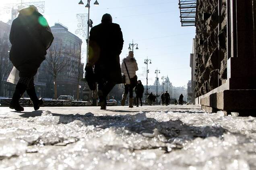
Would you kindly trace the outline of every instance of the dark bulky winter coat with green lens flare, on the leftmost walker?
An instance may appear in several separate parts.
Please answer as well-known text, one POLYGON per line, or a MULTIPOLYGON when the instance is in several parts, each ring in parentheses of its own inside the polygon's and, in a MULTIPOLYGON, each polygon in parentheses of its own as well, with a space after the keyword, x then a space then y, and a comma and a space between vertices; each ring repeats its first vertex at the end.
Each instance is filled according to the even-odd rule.
MULTIPOLYGON (((37 12, 25 8, 13 20, 10 30, 10 61, 20 71, 20 77, 33 77, 43 60, 47 47, 44 45, 43 32, 48 24, 45 18, 37 12)), ((53 36, 51 34, 50 44, 53 36)))

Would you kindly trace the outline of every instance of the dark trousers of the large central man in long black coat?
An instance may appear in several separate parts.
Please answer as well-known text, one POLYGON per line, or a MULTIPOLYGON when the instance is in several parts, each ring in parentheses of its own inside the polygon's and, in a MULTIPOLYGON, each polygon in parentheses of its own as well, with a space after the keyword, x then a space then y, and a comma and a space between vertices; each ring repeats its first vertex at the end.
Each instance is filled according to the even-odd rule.
POLYGON ((99 102, 105 101, 107 103, 107 95, 113 89, 116 83, 101 80, 98 82, 99 102))

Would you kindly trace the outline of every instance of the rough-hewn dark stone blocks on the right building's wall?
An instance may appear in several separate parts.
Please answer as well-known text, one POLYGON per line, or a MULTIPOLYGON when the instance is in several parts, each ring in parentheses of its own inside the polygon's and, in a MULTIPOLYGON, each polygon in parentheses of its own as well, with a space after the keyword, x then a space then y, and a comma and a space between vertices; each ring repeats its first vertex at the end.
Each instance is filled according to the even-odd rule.
POLYGON ((218 0, 197 1, 196 97, 217 88, 219 81, 227 79, 226 0, 223 0, 222 4, 222 24, 219 31, 218 0))

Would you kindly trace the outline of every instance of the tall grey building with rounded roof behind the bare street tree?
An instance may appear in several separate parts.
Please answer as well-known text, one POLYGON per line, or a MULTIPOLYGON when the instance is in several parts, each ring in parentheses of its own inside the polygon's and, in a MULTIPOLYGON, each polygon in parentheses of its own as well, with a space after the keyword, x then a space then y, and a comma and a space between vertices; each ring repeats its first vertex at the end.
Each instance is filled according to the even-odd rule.
MULTIPOLYGON (((76 99, 76 90, 78 84, 78 68, 80 68, 79 79, 83 79, 84 64, 81 62, 79 51, 82 45, 82 40, 78 36, 68 31, 68 28, 60 23, 55 23, 51 27, 54 35, 54 42, 51 48, 57 48, 61 51, 60 60, 65 60, 66 65, 58 74, 56 82, 52 75, 49 74, 45 67, 47 64, 42 64, 39 70, 40 81, 46 83, 47 89, 45 91, 45 97, 54 97, 54 83, 57 83, 57 96, 71 95, 76 99), (80 63, 79 63, 80 61, 80 63)), ((91 98, 91 91, 86 89, 85 82, 79 82, 79 98, 81 100, 89 100, 91 98), (86 94, 85 94, 86 93, 86 94)))

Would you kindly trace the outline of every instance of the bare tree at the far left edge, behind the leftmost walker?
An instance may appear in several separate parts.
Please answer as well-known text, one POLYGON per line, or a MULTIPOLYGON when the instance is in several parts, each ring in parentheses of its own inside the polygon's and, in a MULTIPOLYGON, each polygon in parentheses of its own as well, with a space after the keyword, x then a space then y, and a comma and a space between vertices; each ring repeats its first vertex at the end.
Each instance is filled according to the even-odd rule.
POLYGON ((9 60, 8 51, 10 51, 10 44, 8 43, 8 39, 6 39, 0 42, 0 89, 2 89, 4 80, 8 74, 10 74, 10 71, 13 67, 9 60))

